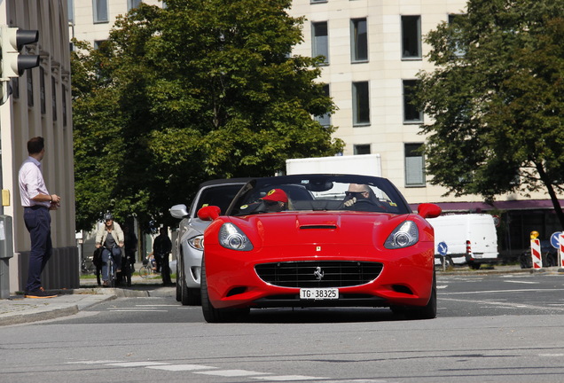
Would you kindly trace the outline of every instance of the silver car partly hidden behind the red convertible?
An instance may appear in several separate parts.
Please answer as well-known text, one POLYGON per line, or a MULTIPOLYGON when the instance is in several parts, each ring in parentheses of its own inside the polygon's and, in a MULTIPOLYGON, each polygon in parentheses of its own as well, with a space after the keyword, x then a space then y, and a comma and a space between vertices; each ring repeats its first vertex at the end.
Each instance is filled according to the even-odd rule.
POLYGON ((209 222, 198 218, 198 209, 214 205, 225 211, 247 181, 248 178, 231 178, 205 182, 200 184, 190 210, 184 204, 170 208, 170 215, 182 220, 173 243, 173 254, 176 254, 176 301, 183 305, 200 304, 203 234, 209 222))

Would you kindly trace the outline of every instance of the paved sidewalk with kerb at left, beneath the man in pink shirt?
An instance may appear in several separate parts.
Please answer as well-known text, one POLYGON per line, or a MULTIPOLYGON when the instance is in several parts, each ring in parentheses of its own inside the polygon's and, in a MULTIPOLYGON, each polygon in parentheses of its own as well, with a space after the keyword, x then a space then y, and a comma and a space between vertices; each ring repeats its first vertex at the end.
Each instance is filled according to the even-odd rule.
POLYGON ((58 317, 68 317, 83 309, 119 297, 175 296, 176 287, 163 286, 161 277, 131 278, 130 287, 98 287, 96 277, 81 278, 81 288, 74 290, 51 290, 59 296, 49 299, 30 299, 23 295, 12 295, 0 300, 0 326, 24 324, 58 317))

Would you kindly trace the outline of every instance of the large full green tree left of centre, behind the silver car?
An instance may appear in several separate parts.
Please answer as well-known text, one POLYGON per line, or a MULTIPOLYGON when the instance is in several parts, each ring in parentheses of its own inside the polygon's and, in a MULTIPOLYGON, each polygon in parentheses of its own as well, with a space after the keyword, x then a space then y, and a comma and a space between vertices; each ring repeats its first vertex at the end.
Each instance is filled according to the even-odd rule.
POLYGON ((102 210, 111 201, 120 215, 165 222, 208 179, 272 176, 288 158, 341 152, 334 128, 311 118, 335 106, 316 82, 320 59, 289 54, 303 22, 286 13, 290 4, 141 4, 116 21, 104 49, 76 57, 86 84, 74 99, 80 216, 95 215, 82 204, 105 199, 102 210), (91 188, 97 172, 106 191, 91 188))

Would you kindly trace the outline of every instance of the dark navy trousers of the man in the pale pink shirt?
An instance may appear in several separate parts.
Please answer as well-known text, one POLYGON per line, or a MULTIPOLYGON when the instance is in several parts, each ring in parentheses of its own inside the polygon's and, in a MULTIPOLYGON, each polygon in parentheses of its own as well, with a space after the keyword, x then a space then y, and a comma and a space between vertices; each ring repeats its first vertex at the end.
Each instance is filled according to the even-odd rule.
POLYGON ((51 215, 47 207, 25 207, 24 223, 31 237, 29 268, 27 270, 27 292, 41 287, 41 273, 51 258, 51 215))

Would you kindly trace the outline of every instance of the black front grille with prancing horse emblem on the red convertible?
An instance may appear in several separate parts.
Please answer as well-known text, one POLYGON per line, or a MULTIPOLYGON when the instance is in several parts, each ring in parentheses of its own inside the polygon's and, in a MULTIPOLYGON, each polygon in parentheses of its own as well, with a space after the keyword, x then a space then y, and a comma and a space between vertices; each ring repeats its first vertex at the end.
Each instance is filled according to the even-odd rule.
POLYGON ((347 287, 364 285, 376 279, 380 275, 382 264, 357 261, 273 262, 255 265, 255 270, 270 285, 347 287))

